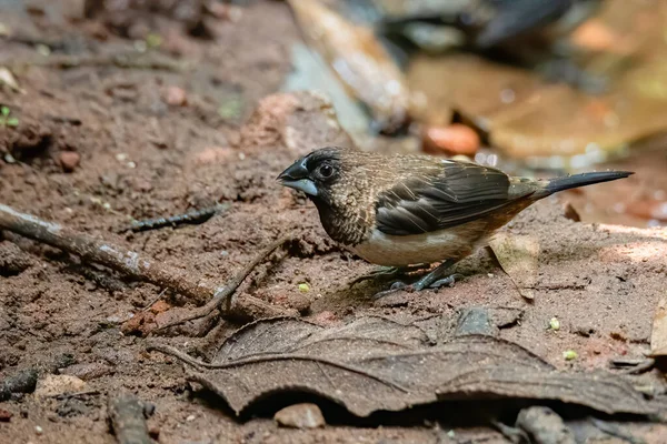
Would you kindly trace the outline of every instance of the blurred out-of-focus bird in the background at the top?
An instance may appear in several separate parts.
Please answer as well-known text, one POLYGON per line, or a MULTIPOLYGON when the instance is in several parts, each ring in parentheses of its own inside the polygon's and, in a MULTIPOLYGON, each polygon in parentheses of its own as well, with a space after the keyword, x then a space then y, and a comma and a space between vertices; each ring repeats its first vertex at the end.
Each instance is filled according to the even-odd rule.
POLYGON ((465 50, 537 69, 547 80, 587 92, 606 88, 604 75, 575 61, 580 50, 568 41, 603 9, 604 0, 437 0, 402 8, 386 0, 367 1, 379 11, 375 32, 404 64, 418 50, 465 50))

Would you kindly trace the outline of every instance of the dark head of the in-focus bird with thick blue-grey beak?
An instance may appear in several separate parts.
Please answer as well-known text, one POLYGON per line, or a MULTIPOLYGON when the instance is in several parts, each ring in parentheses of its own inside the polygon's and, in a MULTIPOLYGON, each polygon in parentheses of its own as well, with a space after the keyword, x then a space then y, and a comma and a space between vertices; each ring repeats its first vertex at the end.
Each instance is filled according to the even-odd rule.
POLYGON ((331 203, 331 191, 342 176, 344 149, 322 148, 297 160, 278 175, 285 186, 305 192, 313 202, 331 203))

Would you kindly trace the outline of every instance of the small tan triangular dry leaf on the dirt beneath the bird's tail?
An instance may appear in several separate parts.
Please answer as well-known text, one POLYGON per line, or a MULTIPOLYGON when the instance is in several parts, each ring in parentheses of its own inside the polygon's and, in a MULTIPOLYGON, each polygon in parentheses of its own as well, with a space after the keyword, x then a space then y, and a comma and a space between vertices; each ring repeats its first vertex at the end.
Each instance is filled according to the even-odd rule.
POLYGON ((502 271, 511 279, 519 294, 535 297, 532 289, 537 283, 539 243, 532 236, 498 233, 489 242, 502 271))

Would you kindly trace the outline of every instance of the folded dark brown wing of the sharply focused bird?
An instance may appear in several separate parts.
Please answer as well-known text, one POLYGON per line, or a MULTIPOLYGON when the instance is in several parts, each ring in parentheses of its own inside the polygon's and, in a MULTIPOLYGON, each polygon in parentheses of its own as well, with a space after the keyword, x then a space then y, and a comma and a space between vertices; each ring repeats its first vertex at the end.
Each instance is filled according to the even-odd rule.
POLYGON ((392 235, 421 234, 470 222, 519 198, 509 176, 474 163, 447 161, 379 193, 376 223, 392 235))

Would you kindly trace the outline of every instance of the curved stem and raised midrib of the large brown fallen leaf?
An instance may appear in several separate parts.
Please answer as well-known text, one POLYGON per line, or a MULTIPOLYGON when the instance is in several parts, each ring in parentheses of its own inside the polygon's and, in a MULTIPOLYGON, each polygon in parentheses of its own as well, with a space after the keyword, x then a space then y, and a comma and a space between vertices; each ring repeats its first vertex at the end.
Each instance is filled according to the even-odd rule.
POLYGON ((381 376, 375 375, 372 373, 369 373, 369 372, 365 371, 364 369, 359 369, 354 365, 344 364, 342 362, 337 362, 337 361, 332 361, 332 360, 329 360, 326 357, 320 357, 320 356, 309 356, 309 355, 292 354, 292 353, 265 354, 265 355, 260 355, 260 356, 241 357, 239 360, 233 360, 233 361, 229 361, 229 362, 220 363, 220 364, 209 364, 208 362, 199 361, 199 360, 179 351, 178 349, 175 349, 169 345, 150 344, 146 347, 146 350, 149 352, 157 351, 157 352, 161 352, 161 353, 171 355, 171 356, 177 357, 192 366, 205 367, 205 369, 215 369, 215 370, 233 369, 233 367, 240 367, 243 365, 261 364, 265 362, 276 362, 276 361, 313 362, 313 363, 327 364, 327 365, 330 365, 330 366, 334 366, 334 367, 337 367, 340 370, 345 370, 347 372, 360 374, 362 376, 378 381, 385 385, 392 386, 394 389, 399 390, 405 393, 409 392, 409 390, 404 387, 402 385, 397 384, 392 381, 388 381, 388 380, 386 380, 381 376))

